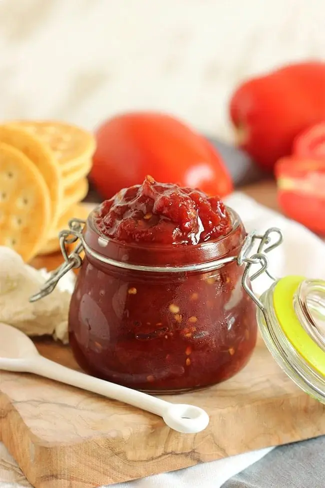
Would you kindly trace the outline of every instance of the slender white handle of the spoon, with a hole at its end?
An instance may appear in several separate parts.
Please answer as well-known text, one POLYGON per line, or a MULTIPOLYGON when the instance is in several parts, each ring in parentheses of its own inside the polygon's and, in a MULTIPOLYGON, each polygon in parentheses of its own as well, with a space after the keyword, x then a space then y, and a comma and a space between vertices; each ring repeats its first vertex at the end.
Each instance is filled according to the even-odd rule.
POLYGON ((155 396, 75 371, 43 356, 37 355, 29 358, 25 363, 25 371, 154 413, 161 416, 169 427, 179 432, 199 432, 205 429, 209 421, 207 413, 194 405, 170 403, 155 396))

